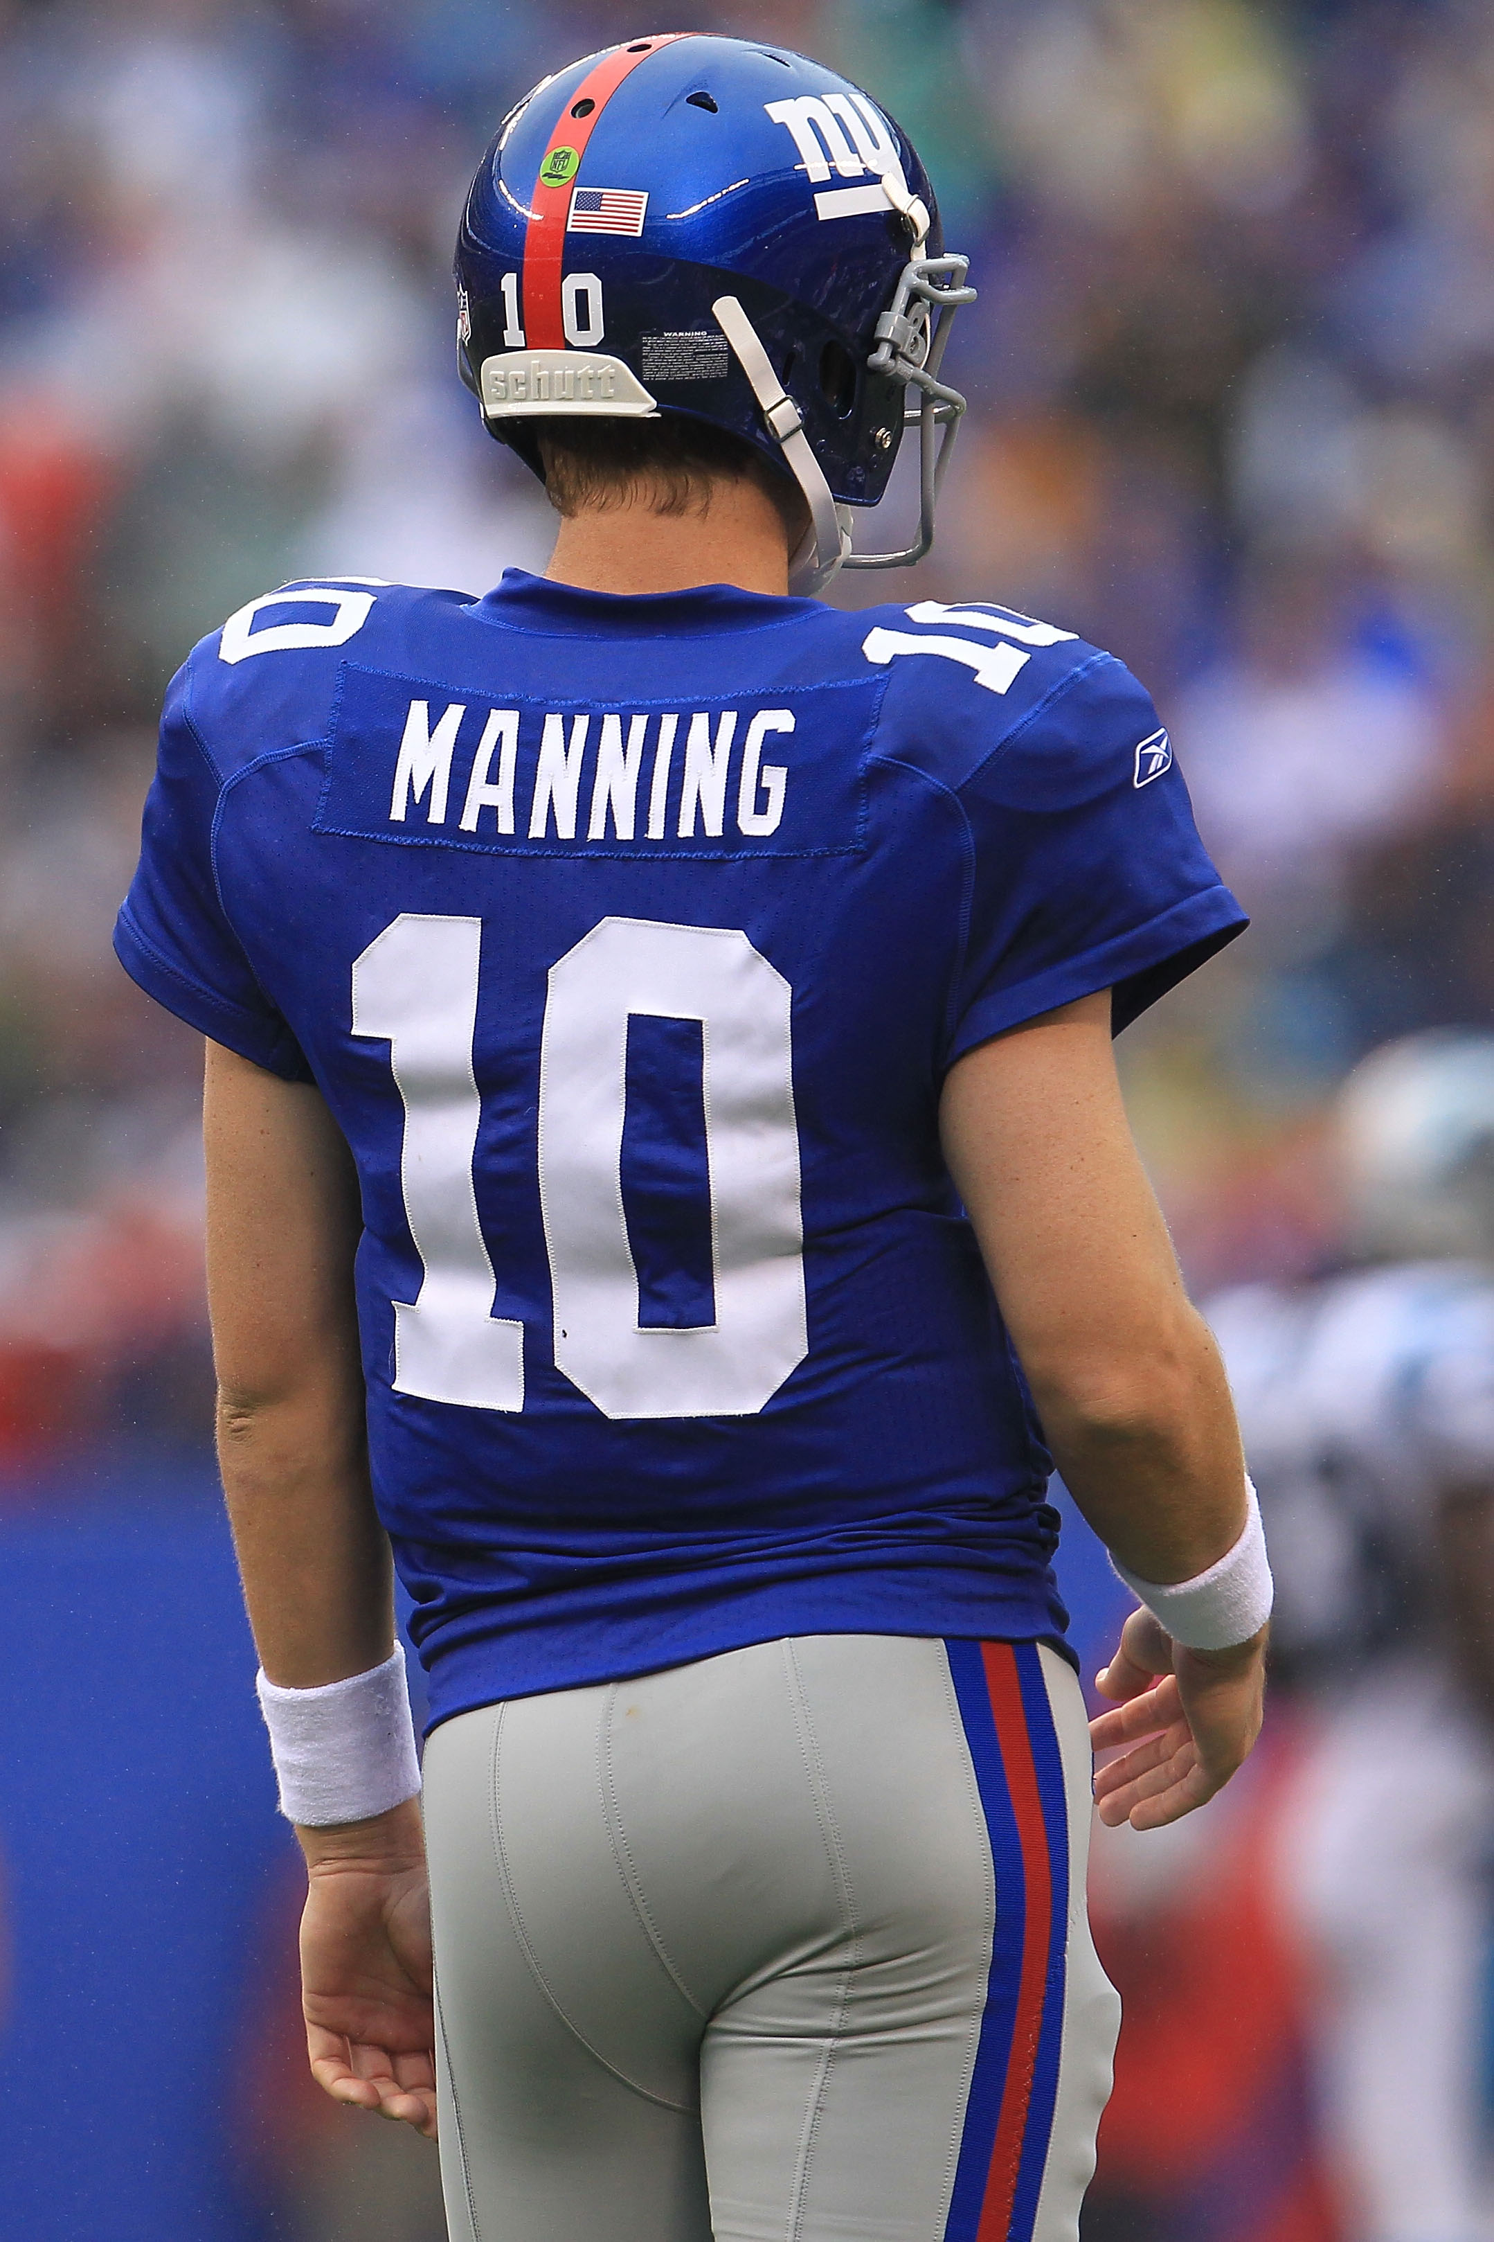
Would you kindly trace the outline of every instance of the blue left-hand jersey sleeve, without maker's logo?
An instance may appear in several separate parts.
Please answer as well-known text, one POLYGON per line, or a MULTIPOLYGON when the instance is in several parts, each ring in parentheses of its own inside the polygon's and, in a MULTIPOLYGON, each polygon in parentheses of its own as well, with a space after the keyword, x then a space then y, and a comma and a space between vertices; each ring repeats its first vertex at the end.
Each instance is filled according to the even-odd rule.
POLYGON ((190 664, 161 713, 141 861, 114 924, 114 953, 146 995, 258 1067, 311 1081, 296 1036, 264 995, 224 912, 213 870, 220 778, 188 708, 190 664))

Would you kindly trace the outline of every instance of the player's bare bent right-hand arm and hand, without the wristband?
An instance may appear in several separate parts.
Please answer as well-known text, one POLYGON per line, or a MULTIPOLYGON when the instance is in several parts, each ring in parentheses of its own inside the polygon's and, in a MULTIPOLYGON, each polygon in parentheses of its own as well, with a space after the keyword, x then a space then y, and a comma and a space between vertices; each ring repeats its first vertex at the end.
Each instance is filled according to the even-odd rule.
MULTIPOLYGON (((1109 991, 959 1058, 941 1130, 1064 1484, 1129 1572, 1196 1578, 1245 1527, 1245 1466, 1131 1141, 1109 991)), ((1136 1612, 1091 1731, 1127 1747, 1095 1780, 1102 1821, 1154 1829, 1212 1798, 1254 1744, 1263 1682, 1266 1630, 1187 1650, 1136 1612)))

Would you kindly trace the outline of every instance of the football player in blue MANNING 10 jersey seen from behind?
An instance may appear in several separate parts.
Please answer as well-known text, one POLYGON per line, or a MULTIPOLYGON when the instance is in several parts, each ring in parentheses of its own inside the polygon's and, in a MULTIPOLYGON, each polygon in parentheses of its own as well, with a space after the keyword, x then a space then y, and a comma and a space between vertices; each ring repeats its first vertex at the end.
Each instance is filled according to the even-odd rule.
POLYGON ((1075 2233, 1115 1998, 1053 1457, 1145 1599, 1102 1812, 1259 1724, 1259 1513, 1111 1065, 1239 906, 1115 659, 813 596, 927 547, 963 269, 815 63, 562 70, 457 247, 547 576, 282 585, 168 695, 119 951, 208 1036, 311 2065, 439 2103, 466 2242, 1075 2233), (918 536, 856 554, 905 428, 918 536))

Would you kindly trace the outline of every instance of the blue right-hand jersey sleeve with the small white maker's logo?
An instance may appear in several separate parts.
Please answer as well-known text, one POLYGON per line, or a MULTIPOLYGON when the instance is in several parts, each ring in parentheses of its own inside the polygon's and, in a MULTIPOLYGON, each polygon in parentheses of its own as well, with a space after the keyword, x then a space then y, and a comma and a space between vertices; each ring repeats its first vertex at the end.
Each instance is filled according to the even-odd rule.
POLYGON ((950 1063, 1113 989, 1115 1034, 1248 924, 1149 695, 1109 655, 959 789, 974 854, 950 1063))

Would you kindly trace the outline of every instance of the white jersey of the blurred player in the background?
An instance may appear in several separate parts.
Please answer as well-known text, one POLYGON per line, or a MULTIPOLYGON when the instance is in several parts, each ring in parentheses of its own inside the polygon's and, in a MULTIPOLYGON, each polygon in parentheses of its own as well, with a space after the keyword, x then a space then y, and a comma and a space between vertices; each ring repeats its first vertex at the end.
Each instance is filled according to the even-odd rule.
POLYGON ((1494 1486, 1494 1271, 1241 1285, 1205 1314, 1261 1493, 1281 1652, 1337 1664, 1425 1641, 1438 1498, 1494 1486))

